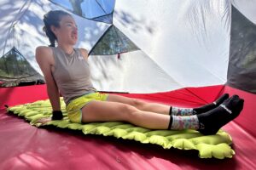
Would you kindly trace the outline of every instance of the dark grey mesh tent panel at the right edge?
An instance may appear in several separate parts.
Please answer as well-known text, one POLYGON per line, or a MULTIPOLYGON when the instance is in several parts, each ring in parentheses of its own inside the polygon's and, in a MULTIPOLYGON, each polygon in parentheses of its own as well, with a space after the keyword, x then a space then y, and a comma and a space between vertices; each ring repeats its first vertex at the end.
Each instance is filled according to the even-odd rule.
POLYGON ((256 24, 232 8, 228 82, 256 94, 256 24))

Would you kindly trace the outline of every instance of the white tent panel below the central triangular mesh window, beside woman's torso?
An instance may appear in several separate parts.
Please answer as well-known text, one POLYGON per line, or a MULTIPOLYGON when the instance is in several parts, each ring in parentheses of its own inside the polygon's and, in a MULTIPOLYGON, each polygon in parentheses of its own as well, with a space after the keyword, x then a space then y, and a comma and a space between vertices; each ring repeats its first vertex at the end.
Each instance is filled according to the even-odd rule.
POLYGON ((91 79, 97 90, 156 93, 158 89, 168 91, 182 87, 142 50, 119 54, 119 57, 115 54, 93 55, 88 61, 91 79), (143 86, 145 82, 147 86, 143 86))

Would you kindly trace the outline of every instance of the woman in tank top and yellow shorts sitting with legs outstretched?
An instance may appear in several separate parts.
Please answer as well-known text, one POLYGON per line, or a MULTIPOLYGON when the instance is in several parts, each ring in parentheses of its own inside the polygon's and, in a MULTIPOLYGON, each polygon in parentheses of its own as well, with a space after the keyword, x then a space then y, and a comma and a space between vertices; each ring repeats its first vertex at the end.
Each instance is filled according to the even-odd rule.
POLYGON ((100 94, 90 82, 87 51, 73 48, 78 40, 73 17, 61 10, 49 11, 44 15, 44 25, 50 45, 38 47, 36 59, 44 73, 53 120, 62 119, 59 91, 67 105, 68 118, 79 123, 125 121, 151 129, 190 128, 214 134, 242 110, 243 99, 237 95, 229 99, 228 94, 224 94, 212 104, 183 109, 100 94))

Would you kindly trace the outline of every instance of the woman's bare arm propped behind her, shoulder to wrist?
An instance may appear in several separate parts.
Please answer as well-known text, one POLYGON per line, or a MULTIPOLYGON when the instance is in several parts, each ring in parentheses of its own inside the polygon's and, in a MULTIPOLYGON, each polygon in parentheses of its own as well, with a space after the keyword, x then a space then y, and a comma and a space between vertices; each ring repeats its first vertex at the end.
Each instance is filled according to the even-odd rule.
POLYGON ((36 59, 47 85, 47 94, 53 111, 61 111, 60 93, 51 73, 51 66, 54 65, 53 52, 48 47, 38 47, 36 49, 36 59))

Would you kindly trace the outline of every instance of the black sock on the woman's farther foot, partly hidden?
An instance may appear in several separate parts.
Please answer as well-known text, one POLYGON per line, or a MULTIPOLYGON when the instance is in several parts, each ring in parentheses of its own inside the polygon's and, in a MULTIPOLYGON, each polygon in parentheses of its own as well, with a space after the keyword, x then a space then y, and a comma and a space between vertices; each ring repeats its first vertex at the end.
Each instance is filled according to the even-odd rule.
POLYGON ((198 108, 194 108, 193 114, 198 115, 201 113, 205 113, 207 111, 211 111, 212 109, 218 107, 218 105, 222 104, 224 102, 224 100, 228 99, 228 98, 229 98, 229 94, 223 94, 222 96, 220 96, 216 101, 212 102, 211 104, 207 104, 207 105, 203 105, 198 108))

